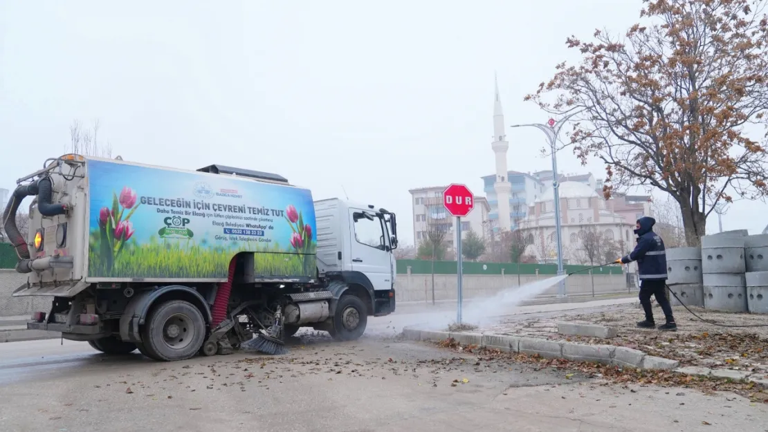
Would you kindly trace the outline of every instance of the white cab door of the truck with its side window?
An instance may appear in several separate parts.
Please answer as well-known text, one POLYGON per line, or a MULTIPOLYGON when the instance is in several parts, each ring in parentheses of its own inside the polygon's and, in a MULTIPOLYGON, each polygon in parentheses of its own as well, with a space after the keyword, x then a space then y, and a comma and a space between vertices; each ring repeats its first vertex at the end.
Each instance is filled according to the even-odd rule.
POLYGON ((363 209, 349 209, 353 272, 368 276, 373 289, 392 289, 389 236, 382 218, 363 209))

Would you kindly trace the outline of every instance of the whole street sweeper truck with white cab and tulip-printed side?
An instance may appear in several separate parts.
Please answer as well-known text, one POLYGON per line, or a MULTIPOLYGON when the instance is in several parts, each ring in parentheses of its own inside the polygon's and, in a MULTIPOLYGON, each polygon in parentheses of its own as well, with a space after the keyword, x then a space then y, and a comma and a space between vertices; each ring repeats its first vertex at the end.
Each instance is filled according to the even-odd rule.
POLYGON ((19 179, 2 216, 28 275, 13 295, 51 298, 27 328, 107 354, 279 353, 301 327, 349 341, 395 311, 395 214, 313 202, 273 173, 66 154, 19 179))

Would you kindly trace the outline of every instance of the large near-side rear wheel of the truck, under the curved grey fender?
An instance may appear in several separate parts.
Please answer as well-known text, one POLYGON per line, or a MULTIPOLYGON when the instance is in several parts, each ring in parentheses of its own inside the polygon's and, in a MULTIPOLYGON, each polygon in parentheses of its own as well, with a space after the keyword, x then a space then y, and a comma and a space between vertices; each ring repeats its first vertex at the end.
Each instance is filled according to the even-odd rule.
POLYGON ((141 330, 144 355, 160 361, 191 358, 205 340, 203 314, 184 300, 170 300, 157 305, 141 330))

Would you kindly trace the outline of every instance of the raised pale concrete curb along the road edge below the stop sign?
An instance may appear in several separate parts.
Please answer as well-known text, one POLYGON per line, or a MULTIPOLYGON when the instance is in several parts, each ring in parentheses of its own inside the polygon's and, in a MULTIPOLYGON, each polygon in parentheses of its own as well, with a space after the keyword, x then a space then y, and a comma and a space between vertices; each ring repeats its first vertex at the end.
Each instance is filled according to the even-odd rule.
MULTIPOLYGON (((499 351, 515 352, 528 355, 540 355, 544 358, 565 358, 572 361, 593 361, 614 364, 621 368, 674 370, 679 361, 654 357, 643 351, 614 345, 585 345, 574 342, 551 341, 542 338, 530 338, 508 335, 484 335, 476 332, 449 332, 419 330, 413 327, 402 329, 404 338, 410 341, 439 342, 453 338, 462 345, 478 345, 483 348, 495 348, 499 351)), ((685 373, 680 370, 681 373, 685 373)))

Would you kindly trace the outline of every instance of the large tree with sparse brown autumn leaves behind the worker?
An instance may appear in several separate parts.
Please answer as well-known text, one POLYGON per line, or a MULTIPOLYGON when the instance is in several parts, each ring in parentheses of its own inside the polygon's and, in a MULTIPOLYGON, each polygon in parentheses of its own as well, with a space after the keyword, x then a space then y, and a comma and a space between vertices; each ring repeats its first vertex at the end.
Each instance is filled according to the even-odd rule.
POLYGON ((717 203, 768 196, 766 135, 749 126, 768 126, 768 0, 643 3, 626 31, 568 38, 581 61, 527 99, 572 114, 570 144, 606 165, 606 197, 663 190, 698 246, 717 203))

